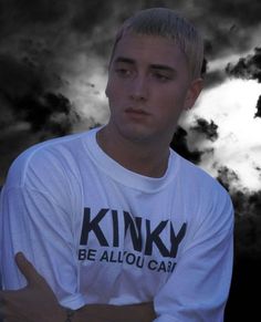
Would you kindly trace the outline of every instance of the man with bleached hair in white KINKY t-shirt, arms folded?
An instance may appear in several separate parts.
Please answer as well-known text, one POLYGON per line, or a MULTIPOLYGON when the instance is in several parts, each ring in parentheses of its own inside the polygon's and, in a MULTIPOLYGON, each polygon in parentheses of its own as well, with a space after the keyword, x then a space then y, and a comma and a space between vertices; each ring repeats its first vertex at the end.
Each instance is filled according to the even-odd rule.
POLYGON ((138 12, 113 49, 108 123, 14 162, 1 198, 3 283, 20 289, 0 293, 8 321, 222 321, 231 201, 169 148, 202 59, 186 20, 138 12))

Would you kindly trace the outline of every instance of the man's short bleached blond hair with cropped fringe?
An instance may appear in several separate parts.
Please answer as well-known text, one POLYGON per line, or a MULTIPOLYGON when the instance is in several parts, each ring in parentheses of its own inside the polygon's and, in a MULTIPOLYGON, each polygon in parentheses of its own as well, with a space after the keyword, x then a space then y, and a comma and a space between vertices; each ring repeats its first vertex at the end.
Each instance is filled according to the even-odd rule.
POLYGON ((187 59, 191 79, 201 76, 203 63, 202 38, 189 21, 174 10, 166 8, 145 9, 127 19, 116 34, 112 58, 118 41, 126 33, 156 35, 174 40, 187 59))

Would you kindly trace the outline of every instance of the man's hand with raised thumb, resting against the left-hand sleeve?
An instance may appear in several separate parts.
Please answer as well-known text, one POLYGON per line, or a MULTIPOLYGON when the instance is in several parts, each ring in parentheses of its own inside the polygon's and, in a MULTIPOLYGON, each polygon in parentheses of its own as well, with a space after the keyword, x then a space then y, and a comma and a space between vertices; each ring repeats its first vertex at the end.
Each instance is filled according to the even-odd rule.
POLYGON ((65 311, 45 279, 22 252, 17 253, 15 262, 28 285, 17 291, 0 291, 0 316, 4 318, 4 322, 65 321, 65 311))

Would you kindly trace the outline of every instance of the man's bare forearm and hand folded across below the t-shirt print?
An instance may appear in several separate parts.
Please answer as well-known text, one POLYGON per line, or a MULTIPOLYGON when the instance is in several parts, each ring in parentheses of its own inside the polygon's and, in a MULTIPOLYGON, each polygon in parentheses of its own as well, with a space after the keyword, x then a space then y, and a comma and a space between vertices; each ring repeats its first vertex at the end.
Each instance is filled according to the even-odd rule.
MULTIPOLYGON (((0 316, 4 322, 65 322, 66 310, 61 307, 43 277, 22 253, 15 256, 17 264, 28 281, 24 289, 0 291, 0 316)), ((88 304, 75 311, 73 322, 150 322, 156 318, 154 305, 88 304)))

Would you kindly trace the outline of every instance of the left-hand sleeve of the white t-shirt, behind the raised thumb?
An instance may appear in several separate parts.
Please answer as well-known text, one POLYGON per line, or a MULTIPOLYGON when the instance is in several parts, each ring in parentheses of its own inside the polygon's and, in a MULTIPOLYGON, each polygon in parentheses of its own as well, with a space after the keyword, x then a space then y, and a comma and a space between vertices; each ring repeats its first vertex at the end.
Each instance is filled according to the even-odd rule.
POLYGON ((22 251, 63 305, 72 309, 84 305, 79 291, 72 216, 63 205, 58 205, 46 193, 25 186, 7 186, 1 193, 0 209, 0 264, 4 289, 15 290, 27 284, 13 259, 22 251))

